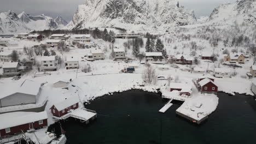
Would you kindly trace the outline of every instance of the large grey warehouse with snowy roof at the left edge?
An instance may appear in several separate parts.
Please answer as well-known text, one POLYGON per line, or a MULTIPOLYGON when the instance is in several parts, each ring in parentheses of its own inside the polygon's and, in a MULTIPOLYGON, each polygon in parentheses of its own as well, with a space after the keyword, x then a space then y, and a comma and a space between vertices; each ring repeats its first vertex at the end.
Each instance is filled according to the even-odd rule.
POLYGON ((0 107, 36 104, 41 91, 41 84, 25 80, 19 85, 12 83, 0 88, 0 107))

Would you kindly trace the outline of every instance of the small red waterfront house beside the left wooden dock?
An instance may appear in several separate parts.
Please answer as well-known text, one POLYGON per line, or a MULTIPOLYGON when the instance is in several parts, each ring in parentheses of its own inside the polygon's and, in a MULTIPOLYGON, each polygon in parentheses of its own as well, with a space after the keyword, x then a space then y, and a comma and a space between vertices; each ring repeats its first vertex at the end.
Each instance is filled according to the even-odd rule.
POLYGON ((53 116, 61 117, 63 115, 66 115, 69 110, 77 109, 78 103, 79 100, 77 98, 69 98, 51 106, 50 110, 51 113, 53 113, 53 116))

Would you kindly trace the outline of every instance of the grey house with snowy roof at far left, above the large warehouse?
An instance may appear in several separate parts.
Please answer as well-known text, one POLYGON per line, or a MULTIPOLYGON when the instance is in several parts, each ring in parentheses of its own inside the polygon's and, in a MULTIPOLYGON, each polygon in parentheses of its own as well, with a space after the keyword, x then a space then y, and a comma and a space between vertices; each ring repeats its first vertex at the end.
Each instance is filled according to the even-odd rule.
POLYGON ((20 76, 21 70, 19 69, 20 64, 18 62, 4 62, 3 64, 3 76, 20 76))

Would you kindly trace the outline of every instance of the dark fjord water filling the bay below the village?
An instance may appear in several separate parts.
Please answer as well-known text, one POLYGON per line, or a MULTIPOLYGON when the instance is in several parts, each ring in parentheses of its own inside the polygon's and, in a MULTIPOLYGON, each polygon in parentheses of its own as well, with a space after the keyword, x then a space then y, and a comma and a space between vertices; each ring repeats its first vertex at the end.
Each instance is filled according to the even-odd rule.
MULTIPOLYGON (((256 101, 246 95, 218 93, 219 105, 208 120, 195 125, 166 113, 159 94, 138 90, 95 99, 85 107, 98 113, 89 125, 62 122, 67 143, 256 143, 256 101)), ((56 126, 57 124, 55 124, 56 126)))

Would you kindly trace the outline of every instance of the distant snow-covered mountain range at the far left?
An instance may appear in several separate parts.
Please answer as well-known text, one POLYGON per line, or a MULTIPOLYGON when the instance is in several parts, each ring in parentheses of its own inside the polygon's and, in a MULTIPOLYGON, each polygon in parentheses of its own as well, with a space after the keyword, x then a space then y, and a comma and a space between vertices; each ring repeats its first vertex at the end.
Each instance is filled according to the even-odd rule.
POLYGON ((14 11, 0 13, 0 33, 19 33, 27 31, 43 31, 44 29, 60 29, 67 22, 58 16, 56 19, 45 15, 32 16, 22 12, 17 15, 14 11))

